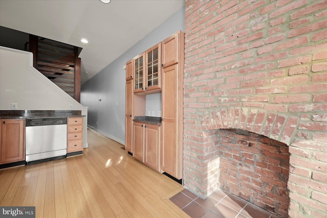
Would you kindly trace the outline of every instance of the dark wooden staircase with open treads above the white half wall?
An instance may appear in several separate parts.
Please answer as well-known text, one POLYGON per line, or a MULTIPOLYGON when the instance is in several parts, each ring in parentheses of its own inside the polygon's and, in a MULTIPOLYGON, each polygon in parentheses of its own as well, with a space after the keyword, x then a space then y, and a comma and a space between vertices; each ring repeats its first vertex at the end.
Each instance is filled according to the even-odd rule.
POLYGON ((81 95, 79 47, 30 35, 33 66, 76 101, 81 95))

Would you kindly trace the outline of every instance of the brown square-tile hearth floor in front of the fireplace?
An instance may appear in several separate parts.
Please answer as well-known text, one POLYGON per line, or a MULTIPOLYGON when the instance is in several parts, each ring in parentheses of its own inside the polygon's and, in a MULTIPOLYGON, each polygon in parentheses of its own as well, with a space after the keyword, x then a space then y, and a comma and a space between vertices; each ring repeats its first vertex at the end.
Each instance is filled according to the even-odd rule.
POLYGON ((236 198, 218 189, 203 200, 184 189, 169 199, 192 218, 275 218, 245 200, 236 198))

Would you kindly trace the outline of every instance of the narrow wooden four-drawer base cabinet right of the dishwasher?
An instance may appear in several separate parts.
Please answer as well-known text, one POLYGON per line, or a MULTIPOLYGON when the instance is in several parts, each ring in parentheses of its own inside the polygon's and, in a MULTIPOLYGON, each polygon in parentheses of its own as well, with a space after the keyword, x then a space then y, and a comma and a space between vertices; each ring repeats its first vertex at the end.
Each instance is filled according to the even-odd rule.
POLYGON ((67 153, 83 151, 83 117, 67 118, 67 153))

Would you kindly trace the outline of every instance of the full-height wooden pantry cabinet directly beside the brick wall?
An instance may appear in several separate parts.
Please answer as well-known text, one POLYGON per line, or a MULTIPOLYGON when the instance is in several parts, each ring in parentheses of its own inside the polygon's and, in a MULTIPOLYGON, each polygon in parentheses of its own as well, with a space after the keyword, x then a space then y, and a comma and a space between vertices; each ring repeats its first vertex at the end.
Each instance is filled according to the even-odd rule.
POLYGON ((184 33, 179 31, 161 42, 161 169, 182 178, 184 33))

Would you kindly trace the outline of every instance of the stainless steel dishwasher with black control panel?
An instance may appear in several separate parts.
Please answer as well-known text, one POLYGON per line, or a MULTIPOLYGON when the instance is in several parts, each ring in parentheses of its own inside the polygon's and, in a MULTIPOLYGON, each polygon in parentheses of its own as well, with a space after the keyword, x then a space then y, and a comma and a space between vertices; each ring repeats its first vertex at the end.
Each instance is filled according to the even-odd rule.
POLYGON ((67 154, 67 118, 26 119, 26 161, 60 159, 67 154))

